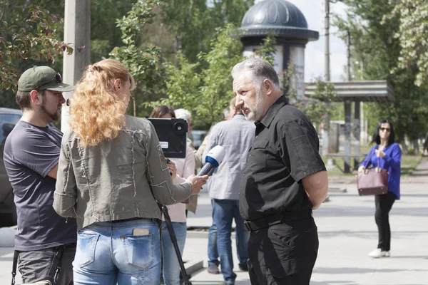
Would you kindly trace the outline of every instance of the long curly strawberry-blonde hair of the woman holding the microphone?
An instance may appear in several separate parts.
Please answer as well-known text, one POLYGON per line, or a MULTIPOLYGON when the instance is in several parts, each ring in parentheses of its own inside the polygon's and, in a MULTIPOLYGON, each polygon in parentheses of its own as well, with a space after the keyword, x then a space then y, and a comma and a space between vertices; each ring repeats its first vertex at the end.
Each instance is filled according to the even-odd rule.
POLYGON ((120 61, 104 59, 89 65, 77 83, 70 103, 70 128, 81 139, 83 147, 113 140, 126 123, 127 103, 114 90, 113 82, 124 85, 133 77, 120 61))

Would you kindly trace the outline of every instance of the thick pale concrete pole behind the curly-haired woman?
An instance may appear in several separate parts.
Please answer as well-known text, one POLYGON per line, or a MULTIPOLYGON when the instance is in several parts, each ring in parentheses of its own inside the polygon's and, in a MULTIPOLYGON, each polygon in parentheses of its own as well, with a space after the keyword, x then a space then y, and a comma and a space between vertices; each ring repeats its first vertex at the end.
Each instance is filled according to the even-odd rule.
MULTIPOLYGON (((90 63, 91 49, 91 0, 66 0, 64 14, 64 42, 73 45, 73 53, 64 52, 63 82, 75 85, 83 69, 90 63)), ((67 100, 73 92, 63 93, 67 100)), ((68 106, 63 105, 61 131, 68 130, 68 106)))

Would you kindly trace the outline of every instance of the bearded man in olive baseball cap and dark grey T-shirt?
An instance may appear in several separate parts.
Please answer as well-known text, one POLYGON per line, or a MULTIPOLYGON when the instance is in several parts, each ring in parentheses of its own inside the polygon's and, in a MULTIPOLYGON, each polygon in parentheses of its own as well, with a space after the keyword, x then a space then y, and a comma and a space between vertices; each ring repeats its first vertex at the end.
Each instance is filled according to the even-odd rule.
POLYGON ((23 115, 6 139, 4 165, 14 188, 15 254, 24 283, 73 284, 76 221, 52 207, 62 133, 50 125, 61 117, 62 93, 71 90, 49 66, 29 68, 18 81, 23 115))

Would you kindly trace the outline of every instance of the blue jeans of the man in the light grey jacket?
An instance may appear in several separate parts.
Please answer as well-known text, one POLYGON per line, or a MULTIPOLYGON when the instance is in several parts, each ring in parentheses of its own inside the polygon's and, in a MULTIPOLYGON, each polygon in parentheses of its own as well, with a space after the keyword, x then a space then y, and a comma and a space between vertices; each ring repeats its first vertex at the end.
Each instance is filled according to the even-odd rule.
POLYGON ((217 249, 220 257, 221 273, 226 284, 235 282, 232 257, 232 220, 236 224, 236 247, 240 264, 248 260, 248 232, 244 229, 244 220, 239 213, 239 201, 232 199, 213 199, 213 222, 217 226, 217 249))

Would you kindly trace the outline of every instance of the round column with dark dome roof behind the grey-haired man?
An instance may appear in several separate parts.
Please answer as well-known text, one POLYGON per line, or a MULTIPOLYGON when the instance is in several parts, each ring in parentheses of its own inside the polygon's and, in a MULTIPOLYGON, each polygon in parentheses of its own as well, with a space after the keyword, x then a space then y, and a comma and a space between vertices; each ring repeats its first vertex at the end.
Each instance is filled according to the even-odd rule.
POLYGON ((292 63, 295 66, 292 83, 297 90, 297 98, 303 98, 305 46, 308 41, 317 41, 319 34, 307 28, 302 12, 286 0, 256 1, 245 14, 240 31, 244 45, 243 56, 251 56, 260 48, 270 31, 275 34, 275 71, 281 75, 289 63, 292 63))

